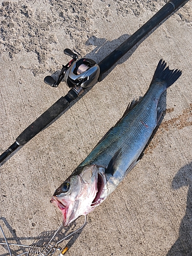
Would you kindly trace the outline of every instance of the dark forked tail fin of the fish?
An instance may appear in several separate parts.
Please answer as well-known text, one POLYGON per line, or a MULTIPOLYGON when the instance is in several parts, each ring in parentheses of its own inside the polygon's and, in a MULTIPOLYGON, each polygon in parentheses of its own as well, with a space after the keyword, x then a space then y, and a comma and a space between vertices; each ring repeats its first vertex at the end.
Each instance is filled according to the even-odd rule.
POLYGON ((155 80, 161 80, 167 83, 166 88, 168 88, 181 76, 182 74, 181 70, 179 69, 171 70, 169 69, 169 66, 166 67, 166 65, 167 63, 163 59, 160 59, 151 84, 154 83, 155 80))

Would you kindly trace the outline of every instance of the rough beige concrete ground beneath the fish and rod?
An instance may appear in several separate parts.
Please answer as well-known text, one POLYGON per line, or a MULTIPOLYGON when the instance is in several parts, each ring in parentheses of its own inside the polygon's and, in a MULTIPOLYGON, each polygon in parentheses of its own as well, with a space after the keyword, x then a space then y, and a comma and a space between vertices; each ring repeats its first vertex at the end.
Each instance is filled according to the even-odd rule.
MULTIPOLYGON (((0 3, 0 153, 69 91, 64 82, 52 88, 43 81, 70 60, 63 49, 99 62, 164 5, 163 0, 0 3)), ((192 255, 191 15, 189 1, 0 167, 0 225, 10 242, 51 238, 62 223, 61 212, 50 204, 54 190, 127 104, 146 92, 163 58, 183 74, 163 96, 167 110, 157 133, 139 164, 88 215, 82 232, 61 247, 68 243, 71 256, 192 255)), ((11 248, 13 255, 24 252, 11 248)), ((0 255, 9 255, 6 247, 0 255)))

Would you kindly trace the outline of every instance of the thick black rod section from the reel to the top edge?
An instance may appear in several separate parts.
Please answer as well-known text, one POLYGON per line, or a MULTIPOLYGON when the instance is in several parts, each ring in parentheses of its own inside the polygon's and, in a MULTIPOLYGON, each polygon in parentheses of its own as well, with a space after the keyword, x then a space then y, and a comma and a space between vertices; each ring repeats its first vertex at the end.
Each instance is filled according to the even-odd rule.
POLYGON ((103 60, 99 62, 100 74, 99 81, 101 81, 101 76, 106 71, 108 71, 113 65, 132 47, 134 47, 146 34, 148 34, 152 29, 154 29, 159 23, 162 22, 170 13, 176 10, 181 4, 186 0, 170 0, 167 2, 151 19, 148 20, 141 28, 139 28, 133 35, 127 38, 119 47, 117 47, 113 52, 106 56, 103 60))

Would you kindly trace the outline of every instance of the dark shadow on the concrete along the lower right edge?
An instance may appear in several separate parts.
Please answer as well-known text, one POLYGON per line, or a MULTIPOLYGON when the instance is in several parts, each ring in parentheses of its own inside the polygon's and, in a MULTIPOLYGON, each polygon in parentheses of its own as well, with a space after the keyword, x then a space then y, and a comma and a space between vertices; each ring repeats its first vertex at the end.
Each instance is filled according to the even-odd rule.
POLYGON ((166 256, 192 255, 192 162, 183 166, 173 179, 173 189, 188 186, 187 206, 180 228, 179 238, 166 256))

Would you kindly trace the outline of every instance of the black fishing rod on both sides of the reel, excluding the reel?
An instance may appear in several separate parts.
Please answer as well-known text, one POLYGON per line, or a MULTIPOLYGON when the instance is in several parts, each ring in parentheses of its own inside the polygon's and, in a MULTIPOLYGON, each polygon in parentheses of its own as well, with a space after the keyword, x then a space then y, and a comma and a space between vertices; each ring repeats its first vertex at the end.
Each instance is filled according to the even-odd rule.
MULTIPOLYGON (((167 2, 151 19, 148 20, 140 29, 138 29, 132 36, 126 39, 119 47, 112 53, 106 56, 99 62, 100 74, 98 81, 101 80, 103 73, 108 71, 125 53, 127 53, 133 46, 135 46, 147 33, 154 29, 162 22, 170 13, 176 10, 186 0, 171 0, 167 2)), ((187 1, 186 1, 187 2, 187 1)), ((79 90, 79 89, 78 89, 79 90)), ((42 129, 50 124, 58 115, 60 115, 82 92, 71 89, 65 97, 58 99, 46 112, 39 116, 33 123, 31 123, 17 138, 16 141, 0 156, 0 163, 3 162, 12 152, 19 146, 23 146, 42 129), (79 93, 80 92, 80 93, 79 93)))

